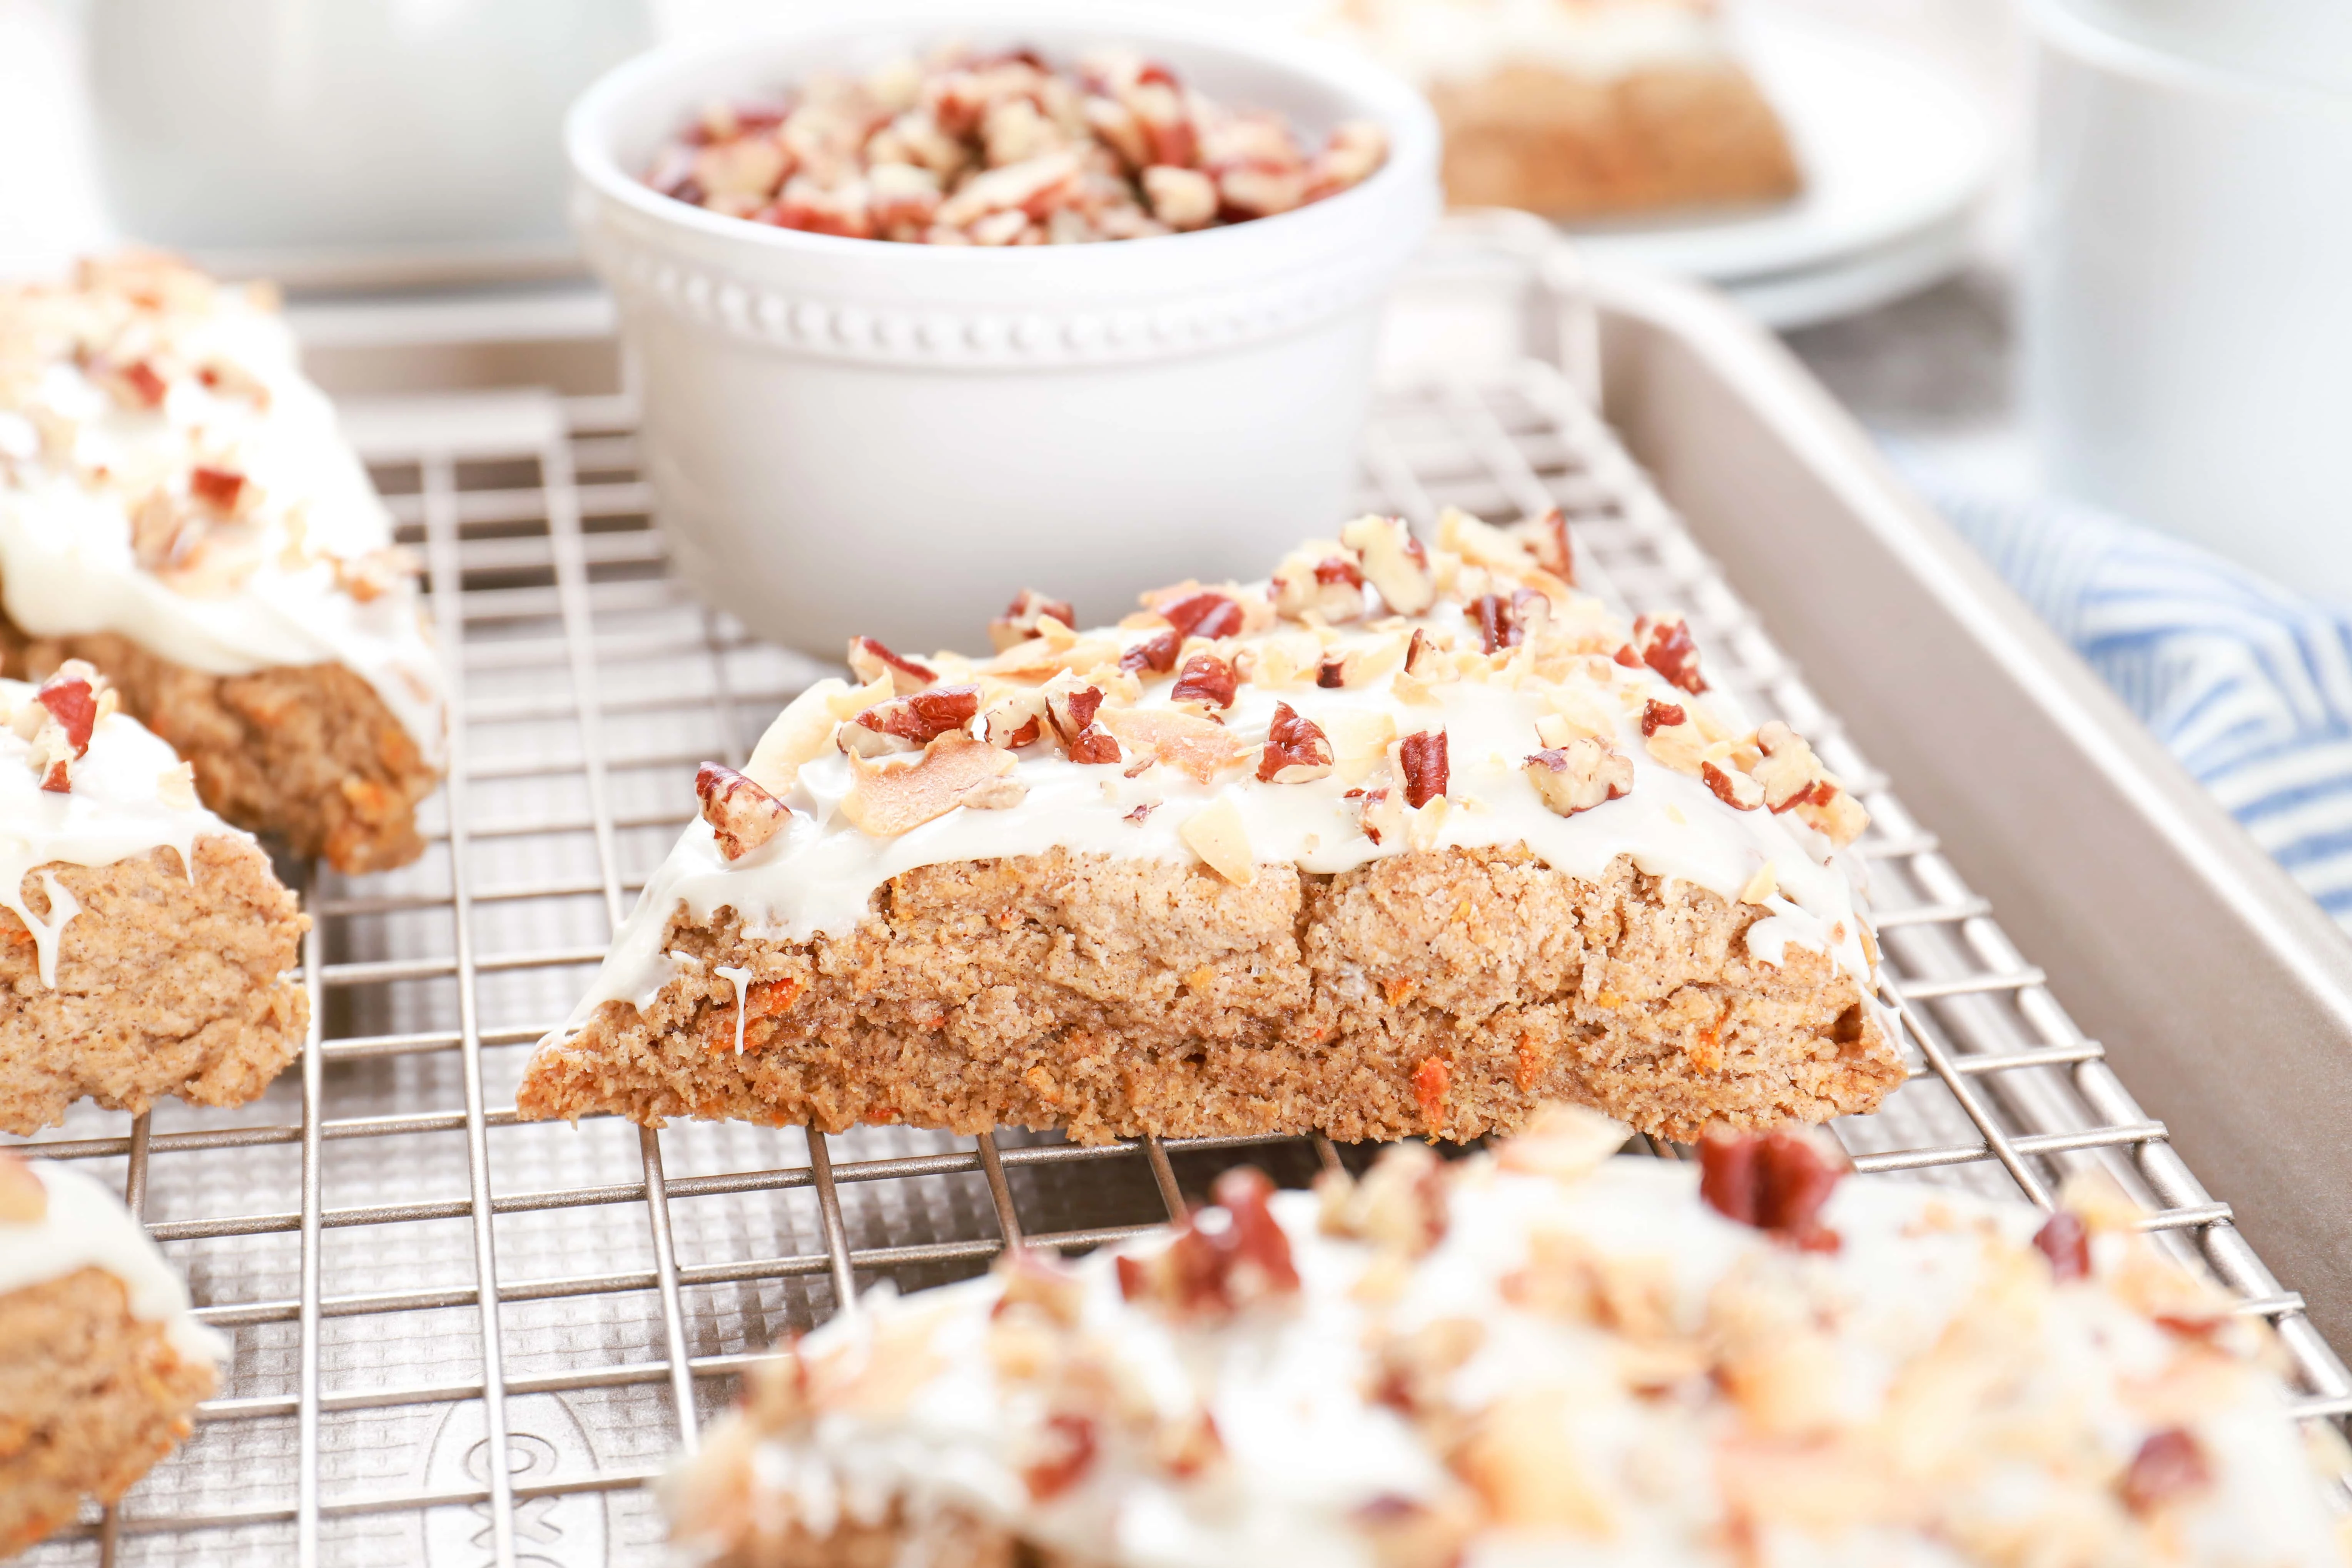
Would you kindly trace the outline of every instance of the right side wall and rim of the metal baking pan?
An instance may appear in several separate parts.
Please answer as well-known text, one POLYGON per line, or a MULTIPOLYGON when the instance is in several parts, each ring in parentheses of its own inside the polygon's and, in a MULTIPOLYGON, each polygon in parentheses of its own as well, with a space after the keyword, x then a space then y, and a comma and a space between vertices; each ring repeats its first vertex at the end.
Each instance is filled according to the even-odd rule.
MULTIPOLYGON (((2352 943, 1719 299, 1585 280, 1602 407, 2225 1199, 2352 1342, 2352 943)), ((1573 331, 1573 329, 1571 329, 1573 331)))

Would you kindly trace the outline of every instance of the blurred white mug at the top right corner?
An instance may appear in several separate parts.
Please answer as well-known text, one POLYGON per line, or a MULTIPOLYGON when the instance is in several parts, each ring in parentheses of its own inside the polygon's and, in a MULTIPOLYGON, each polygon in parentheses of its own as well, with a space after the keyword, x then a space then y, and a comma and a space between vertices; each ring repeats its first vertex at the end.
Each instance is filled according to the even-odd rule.
POLYGON ((2039 0, 2025 409, 2060 491, 2352 604, 2352 92, 2039 0))

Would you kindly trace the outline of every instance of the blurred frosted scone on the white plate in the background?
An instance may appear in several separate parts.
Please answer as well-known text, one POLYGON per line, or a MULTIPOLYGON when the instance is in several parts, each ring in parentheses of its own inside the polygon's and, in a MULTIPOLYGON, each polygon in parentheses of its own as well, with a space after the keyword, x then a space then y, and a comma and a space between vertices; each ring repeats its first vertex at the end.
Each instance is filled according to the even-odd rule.
POLYGON ((1430 96, 1456 207, 1606 219, 1802 183, 1715 0, 1338 0, 1334 28, 1430 96))

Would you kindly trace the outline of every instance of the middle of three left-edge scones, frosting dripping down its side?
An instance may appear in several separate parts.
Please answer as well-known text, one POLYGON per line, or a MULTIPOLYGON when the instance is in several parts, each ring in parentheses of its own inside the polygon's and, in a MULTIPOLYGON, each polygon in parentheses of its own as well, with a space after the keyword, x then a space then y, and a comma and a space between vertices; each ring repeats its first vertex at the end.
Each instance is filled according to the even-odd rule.
POLYGON ((308 919, 82 663, 0 679, 0 1131, 245 1105, 301 1048, 308 919))

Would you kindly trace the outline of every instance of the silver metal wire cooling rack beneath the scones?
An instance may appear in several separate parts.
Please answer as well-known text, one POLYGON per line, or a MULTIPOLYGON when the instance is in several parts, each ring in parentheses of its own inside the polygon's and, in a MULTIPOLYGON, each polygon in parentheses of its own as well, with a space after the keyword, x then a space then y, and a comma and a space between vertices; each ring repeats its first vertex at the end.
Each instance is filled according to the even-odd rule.
MULTIPOLYGON (((668 581, 628 418, 619 400, 452 395, 362 435, 452 670, 430 851, 367 879, 294 867, 313 1032, 261 1103, 136 1121, 85 1105, 38 1140, 122 1185, 235 1359, 181 1453, 31 1563, 659 1561, 644 1481, 760 1347, 851 1288, 1131 1234, 1242 1145, 1294 1182, 1343 1159, 1322 1140, 515 1119, 529 1041, 689 816, 696 762, 741 762, 818 675, 668 581)), ((1555 369, 1383 397, 1364 491, 1421 527, 1442 503, 1564 505, 1604 597, 1684 611, 1726 696, 1856 783, 1912 1053, 1886 1110, 1837 1128, 1865 1173, 2049 1204, 2103 1161, 2277 1324, 2300 1413, 2352 1410, 2303 1302, 1555 369)))

